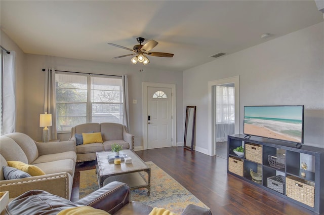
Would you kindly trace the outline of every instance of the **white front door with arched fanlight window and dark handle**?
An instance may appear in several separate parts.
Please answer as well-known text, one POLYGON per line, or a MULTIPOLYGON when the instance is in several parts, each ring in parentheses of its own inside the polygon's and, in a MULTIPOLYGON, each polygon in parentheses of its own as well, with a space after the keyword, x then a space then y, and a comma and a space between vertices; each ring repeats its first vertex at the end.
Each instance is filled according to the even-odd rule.
POLYGON ((172 146, 172 89, 147 88, 147 148, 172 146))

